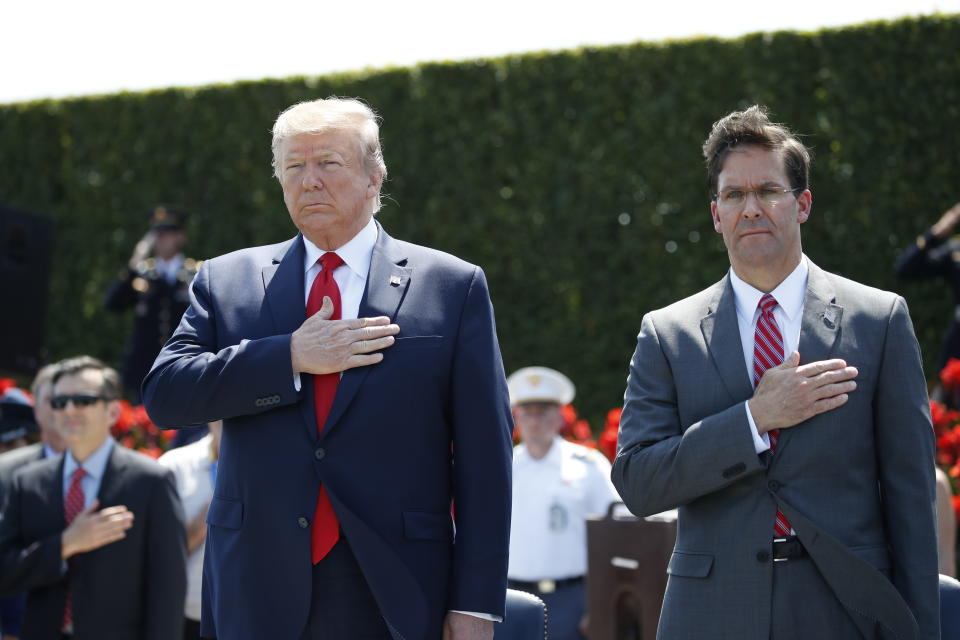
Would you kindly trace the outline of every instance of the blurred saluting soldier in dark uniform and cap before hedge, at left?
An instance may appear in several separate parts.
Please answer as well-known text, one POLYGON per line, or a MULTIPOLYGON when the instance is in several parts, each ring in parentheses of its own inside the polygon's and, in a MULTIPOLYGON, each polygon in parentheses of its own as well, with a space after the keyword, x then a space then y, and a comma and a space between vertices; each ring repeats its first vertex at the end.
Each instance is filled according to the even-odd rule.
POLYGON ((181 252, 187 242, 186 218, 177 207, 154 207, 150 230, 104 295, 103 304, 111 311, 134 308, 123 360, 123 386, 134 402, 140 401, 140 383, 190 304, 190 283, 200 262, 181 252))

